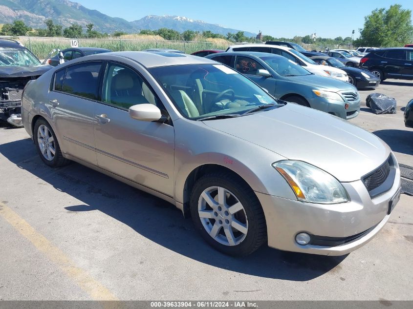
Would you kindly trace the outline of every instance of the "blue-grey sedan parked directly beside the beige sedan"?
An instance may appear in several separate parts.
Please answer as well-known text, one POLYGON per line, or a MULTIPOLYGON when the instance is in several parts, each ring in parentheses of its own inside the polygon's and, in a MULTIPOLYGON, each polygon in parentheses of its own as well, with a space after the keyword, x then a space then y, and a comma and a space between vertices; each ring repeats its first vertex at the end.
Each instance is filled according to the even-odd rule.
POLYGON ((282 56, 233 52, 206 58, 234 68, 277 99, 312 107, 343 119, 354 118, 360 112, 360 96, 353 86, 310 73, 282 56))

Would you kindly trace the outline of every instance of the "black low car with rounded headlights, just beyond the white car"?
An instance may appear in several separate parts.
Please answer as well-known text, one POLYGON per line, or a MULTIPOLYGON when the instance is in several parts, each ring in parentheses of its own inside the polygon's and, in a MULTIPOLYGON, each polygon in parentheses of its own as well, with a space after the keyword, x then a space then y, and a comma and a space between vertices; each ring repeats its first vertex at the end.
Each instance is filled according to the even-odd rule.
POLYGON ((356 67, 345 66, 343 62, 339 62, 336 58, 328 56, 315 56, 311 59, 322 65, 331 65, 342 69, 348 75, 348 82, 356 86, 357 89, 376 88, 380 84, 380 79, 370 71, 356 67))

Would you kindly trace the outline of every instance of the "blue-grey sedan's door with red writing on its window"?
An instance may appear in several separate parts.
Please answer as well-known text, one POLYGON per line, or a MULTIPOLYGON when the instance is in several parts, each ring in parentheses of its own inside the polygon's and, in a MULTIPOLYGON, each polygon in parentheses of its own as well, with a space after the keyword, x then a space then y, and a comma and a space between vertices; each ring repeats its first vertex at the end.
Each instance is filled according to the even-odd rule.
POLYGON ((275 95, 276 80, 273 77, 264 77, 257 74, 258 70, 266 70, 257 60, 247 56, 236 56, 235 69, 262 88, 267 89, 271 95, 275 95))

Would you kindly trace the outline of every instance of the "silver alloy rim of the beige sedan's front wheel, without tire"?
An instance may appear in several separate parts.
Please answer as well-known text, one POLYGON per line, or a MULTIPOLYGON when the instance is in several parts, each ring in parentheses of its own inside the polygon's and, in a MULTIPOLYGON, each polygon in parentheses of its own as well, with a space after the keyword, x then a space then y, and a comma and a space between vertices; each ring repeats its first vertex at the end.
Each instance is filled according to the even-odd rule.
POLYGON ((223 187, 211 186, 202 192, 198 214, 207 233, 222 245, 239 245, 247 236, 248 219, 244 206, 223 187))

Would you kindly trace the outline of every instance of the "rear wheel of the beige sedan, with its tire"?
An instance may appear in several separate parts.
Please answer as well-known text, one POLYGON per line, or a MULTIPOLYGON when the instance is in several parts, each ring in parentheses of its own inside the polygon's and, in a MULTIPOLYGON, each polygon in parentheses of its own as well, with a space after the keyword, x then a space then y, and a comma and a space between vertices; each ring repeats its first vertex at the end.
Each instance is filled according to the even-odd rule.
POLYGON ((68 163, 68 160, 63 157, 56 135, 47 121, 44 119, 36 121, 33 138, 37 152, 46 165, 60 167, 68 163))

